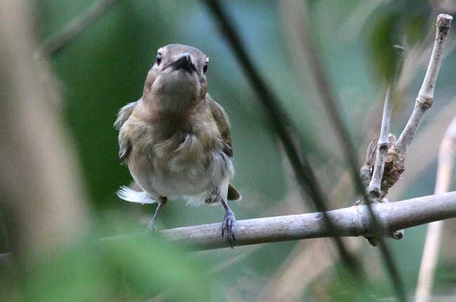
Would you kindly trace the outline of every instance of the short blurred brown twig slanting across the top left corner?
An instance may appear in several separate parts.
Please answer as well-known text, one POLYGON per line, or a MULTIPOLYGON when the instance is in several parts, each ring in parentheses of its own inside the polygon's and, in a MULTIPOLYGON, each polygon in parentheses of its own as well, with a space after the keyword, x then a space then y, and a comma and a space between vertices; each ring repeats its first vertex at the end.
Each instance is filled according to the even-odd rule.
POLYGON ((58 53, 58 51, 62 50, 62 48, 80 34, 83 29, 90 25, 90 23, 114 6, 116 1, 117 0, 100 0, 93 4, 93 6, 90 6, 82 15, 65 25, 58 34, 46 39, 36 50, 36 58, 48 57, 58 53))

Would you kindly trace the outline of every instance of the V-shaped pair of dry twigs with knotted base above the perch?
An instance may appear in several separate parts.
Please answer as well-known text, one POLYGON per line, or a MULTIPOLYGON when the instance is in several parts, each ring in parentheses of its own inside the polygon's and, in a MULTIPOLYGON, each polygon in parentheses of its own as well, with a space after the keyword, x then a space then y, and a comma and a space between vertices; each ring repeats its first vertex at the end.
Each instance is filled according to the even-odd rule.
MULTIPOLYGON (((380 129, 380 138, 377 145, 374 141, 370 143, 366 155, 366 162, 361 167, 361 178, 366 185, 366 193, 370 200, 361 199, 357 204, 366 202, 388 202, 386 195, 397 180, 401 178, 404 169, 405 157, 407 155, 407 147, 410 145, 418 127, 421 124, 424 113, 432 106, 434 102, 434 88, 440 69, 443 48, 445 46, 446 37, 450 29, 452 17, 446 14, 440 14, 437 18, 437 31, 434 48, 432 50, 431 59, 427 68, 426 76, 424 77, 422 86, 418 93, 415 102, 415 108, 405 125, 405 129, 401 136, 396 141, 396 137, 389 133, 389 124, 391 122, 391 103, 394 95, 394 88, 398 79, 398 74, 401 70, 401 61, 404 49, 401 46, 393 46, 396 49, 396 70, 391 78, 385 97, 384 110, 382 116, 382 126, 380 129)), ((377 230, 378 232, 378 230, 377 230)), ((393 232, 391 237, 401 239, 403 230, 393 232)), ((375 238, 367 237, 370 244, 375 244, 375 238)))

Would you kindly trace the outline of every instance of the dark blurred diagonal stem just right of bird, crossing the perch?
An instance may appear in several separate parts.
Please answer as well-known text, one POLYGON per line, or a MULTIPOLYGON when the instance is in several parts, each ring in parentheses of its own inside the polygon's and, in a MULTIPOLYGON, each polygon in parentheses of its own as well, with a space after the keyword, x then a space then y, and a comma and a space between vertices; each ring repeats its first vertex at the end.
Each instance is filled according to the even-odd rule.
MULTIPOLYGON (((307 158, 305 155, 300 156, 300 153, 296 150, 293 143, 293 137, 290 135, 288 127, 290 123, 286 118, 286 114, 283 113, 283 110, 279 106, 278 98, 274 95, 274 93, 272 93, 264 79, 257 72, 252 60, 250 60, 250 57, 247 55, 245 47, 241 43, 239 34, 236 32, 236 29, 232 24, 232 20, 230 20, 227 14, 224 13, 219 1, 205 0, 204 2, 220 22, 224 36, 227 38, 229 44, 231 44, 234 53, 241 63, 243 70, 246 72, 250 83, 257 93, 257 96, 262 101, 262 105, 269 115, 271 126, 274 127, 274 131, 276 131, 279 136, 286 151, 286 155, 293 166, 293 170, 295 171, 295 176, 300 184, 301 190, 311 196, 316 209, 321 211, 323 219, 326 220, 326 223, 332 225, 333 223, 329 220, 328 216, 326 216, 326 211, 328 211, 326 201, 328 198, 316 180, 314 171, 311 169, 307 158)), ((335 237, 334 240, 344 263, 352 268, 352 272, 358 272, 359 267, 356 258, 349 253, 340 238, 335 237)))

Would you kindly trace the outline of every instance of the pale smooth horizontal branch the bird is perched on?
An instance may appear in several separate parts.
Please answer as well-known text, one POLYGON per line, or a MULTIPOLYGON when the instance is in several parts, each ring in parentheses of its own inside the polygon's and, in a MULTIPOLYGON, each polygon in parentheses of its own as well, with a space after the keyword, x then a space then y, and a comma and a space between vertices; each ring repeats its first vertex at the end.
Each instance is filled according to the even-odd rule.
MULTIPOLYGON (((371 206, 378 223, 384 230, 381 235, 389 237, 395 230, 456 217, 456 192, 388 204, 375 203, 371 206)), ((326 214, 336 228, 330 228, 320 212, 236 221, 234 246, 320 237, 373 237, 374 235, 372 219, 364 204, 328 211, 326 214)), ((159 233, 171 241, 185 244, 196 250, 230 247, 227 239, 220 235, 220 223, 161 230, 159 233)), ((135 236, 150 237, 147 233, 135 236)), ((104 240, 128 238, 129 236, 119 236, 104 240)))

